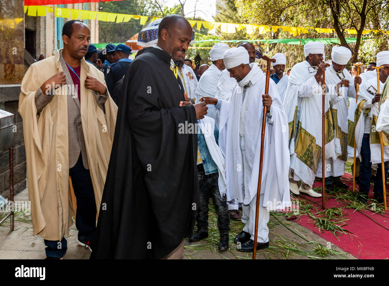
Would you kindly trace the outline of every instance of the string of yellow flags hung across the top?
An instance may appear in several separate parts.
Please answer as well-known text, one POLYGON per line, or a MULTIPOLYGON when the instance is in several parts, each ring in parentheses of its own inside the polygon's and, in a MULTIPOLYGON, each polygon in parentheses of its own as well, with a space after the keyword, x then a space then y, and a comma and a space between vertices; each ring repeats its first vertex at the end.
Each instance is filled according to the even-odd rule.
MULTIPOLYGON (((139 19, 140 25, 144 25, 149 18, 151 21, 158 19, 159 17, 149 17, 149 16, 140 16, 140 15, 130 15, 130 14, 119 14, 119 13, 109 13, 109 12, 100 12, 100 11, 88 11, 88 10, 78 10, 78 9, 68 9, 68 8, 58 8, 58 7, 48 7, 48 6, 25 6, 25 13, 27 12, 28 16, 46 16, 47 12, 54 12, 55 17, 61 18, 70 18, 70 19, 80 19, 80 20, 95 20, 106 21, 106 22, 128 22, 130 19, 139 19)), ((290 27, 290 26, 269 26, 269 25, 252 25, 252 24, 238 24, 238 23, 221 23, 221 22, 212 22, 212 21, 196 21, 188 20, 191 26, 195 26, 197 30, 200 30, 201 26, 208 30, 216 29, 220 27, 222 33, 236 33, 242 29, 246 29, 247 34, 265 34, 268 32, 276 32, 279 28, 284 32, 291 33, 294 37, 300 35, 301 33, 308 33, 308 29, 316 30, 318 33, 333 33, 335 29, 333 28, 314 28, 314 27, 290 27)), ((385 33, 389 35, 389 31, 383 30, 363 30, 362 34, 367 33, 385 33)), ((346 29, 346 33, 356 34, 357 30, 355 29, 346 29)))

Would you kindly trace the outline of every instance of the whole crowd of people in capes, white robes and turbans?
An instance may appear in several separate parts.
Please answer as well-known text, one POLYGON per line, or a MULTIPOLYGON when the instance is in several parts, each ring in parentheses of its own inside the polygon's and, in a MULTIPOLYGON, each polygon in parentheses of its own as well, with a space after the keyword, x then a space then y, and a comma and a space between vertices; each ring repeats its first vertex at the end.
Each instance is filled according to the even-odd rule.
POLYGON ((214 44, 212 64, 196 74, 186 58, 192 27, 182 16, 163 18, 158 42, 134 60, 123 44, 98 54, 80 21, 65 23, 62 39, 55 56, 30 66, 19 98, 33 230, 44 239, 47 259, 65 255, 75 211, 77 243, 92 259, 181 259, 185 238, 208 237, 210 197, 220 251, 231 247, 230 219, 244 223, 233 240, 238 250, 265 249, 270 211, 290 207, 290 193, 321 197, 312 184, 322 166, 326 192, 349 188, 340 178, 354 139, 359 200, 368 200, 376 164, 374 197, 383 202, 378 133, 384 130, 386 181, 389 51, 351 75, 348 48, 334 46, 325 61, 324 44, 308 42, 305 61, 287 70, 286 56, 273 55, 265 92, 250 42, 214 44))

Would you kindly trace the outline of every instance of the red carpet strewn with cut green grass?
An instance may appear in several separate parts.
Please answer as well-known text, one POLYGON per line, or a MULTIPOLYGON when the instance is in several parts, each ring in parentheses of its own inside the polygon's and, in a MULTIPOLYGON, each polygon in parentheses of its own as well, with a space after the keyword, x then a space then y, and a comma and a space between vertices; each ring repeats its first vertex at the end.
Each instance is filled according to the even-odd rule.
MULTIPOLYGON (((345 174, 342 181, 352 188, 352 175, 345 174)), ((313 188, 321 187, 321 181, 315 182, 313 188)), ((358 189, 358 185, 356 184, 358 189)), ((373 193, 370 198, 373 198, 373 193)), ((388 192, 388 187, 386 187, 388 192)), ((326 194, 327 195, 327 194, 326 194)), ((316 212, 322 211, 322 198, 312 198, 305 195, 306 200, 315 202, 311 212, 315 215, 316 212)), ((389 199, 387 199, 389 204, 389 199)), ((330 207, 342 207, 346 205, 344 201, 336 201, 333 198, 326 200, 326 209, 330 207)), ((338 233, 335 235, 332 232, 325 230, 319 232, 314 225, 314 221, 310 216, 304 214, 300 219, 295 220, 300 225, 308 228, 312 232, 326 239, 327 241, 340 247, 343 251, 356 256, 359 259, 387 259, 389 258, 389 209, 384 214, 376 214, 372 211, 355 211, 354 209, 343 209, 343 218, 349 219, 345 221, 347 225, 342 226, 343 229, 350 233, 338 233)))

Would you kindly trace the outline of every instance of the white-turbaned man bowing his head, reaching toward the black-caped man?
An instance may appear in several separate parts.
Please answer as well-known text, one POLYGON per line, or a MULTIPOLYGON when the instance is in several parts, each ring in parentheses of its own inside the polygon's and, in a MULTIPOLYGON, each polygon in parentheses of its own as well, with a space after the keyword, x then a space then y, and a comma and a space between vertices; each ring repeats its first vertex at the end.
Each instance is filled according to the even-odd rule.
POLYGON ((224 64, 236 79, 230 101, 202 98, 216 104, 219 116, 219 146, 226 158, 227 202, 229 209, 242 204, 243 231, 235 237, 240 251, 253 251, 269 246, 270 210, 290 206, 288 188, 289 151, 287 116, 282 107, 277 87, 269 82, 265 94, 266 76, 256 63, 249 64, 249 53, 244 47, 233 47, 224 52, 224 64), (271 95, 271 96, 270 96, 271 95), (265 149, 258 220, 258 239, 254 242, 256 196, 259 175, 259 154, 263 106, 267 106, 265 149))

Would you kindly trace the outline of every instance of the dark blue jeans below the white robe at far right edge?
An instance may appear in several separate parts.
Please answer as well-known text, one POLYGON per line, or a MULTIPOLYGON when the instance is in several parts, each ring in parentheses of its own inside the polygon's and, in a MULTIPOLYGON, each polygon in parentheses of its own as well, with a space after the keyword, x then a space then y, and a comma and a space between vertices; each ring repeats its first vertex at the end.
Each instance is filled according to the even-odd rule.
MULTIPOLYGON (((369 193, 370 190, 370 179, 371 179, 371 161, 370 161, 370 134, 363 134, 362 146, 361 146, 361 167, 359 169, 359 191, 362 193, 369 193)), ((387 180, 388 165, 389 162, 384 162, 385 168, 385 182, 387 180)), ((376 193, 382 193, 382 170, 381 163, 377 164, 377 174, 375 175, 374 189, 376 193)))

